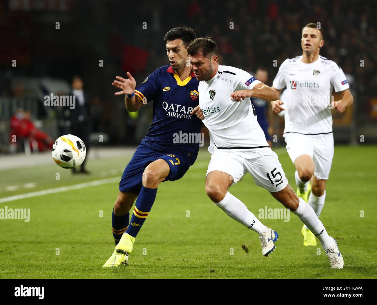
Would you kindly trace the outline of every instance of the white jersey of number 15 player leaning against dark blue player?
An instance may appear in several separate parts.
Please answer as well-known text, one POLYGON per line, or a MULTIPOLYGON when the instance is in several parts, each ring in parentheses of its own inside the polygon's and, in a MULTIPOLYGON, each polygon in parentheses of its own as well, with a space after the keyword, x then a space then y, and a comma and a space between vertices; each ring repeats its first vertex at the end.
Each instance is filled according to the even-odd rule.
POLYGON ((221 65, 213 78, 199 82, 199 105, 210 131, 210 153, 214 146, 238 150, 268 147, 250 98, 232 102, 230 97, 234 91, 252 89, 259 83, 244 70, 221 65))

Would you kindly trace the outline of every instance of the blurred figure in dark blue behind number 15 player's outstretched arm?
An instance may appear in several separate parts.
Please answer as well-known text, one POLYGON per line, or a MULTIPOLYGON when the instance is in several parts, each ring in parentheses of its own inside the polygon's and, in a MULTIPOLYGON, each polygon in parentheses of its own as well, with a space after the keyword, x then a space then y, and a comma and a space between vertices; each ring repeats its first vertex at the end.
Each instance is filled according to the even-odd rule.
MULTIPOLYGON (((264 84, 268 85, 268 72, 265 68, 259 67, 255 71, 255 74, 251 73, 258 81, 263 82, 264 84)), ((268 107, 270 104, 262 99, 251 98, 251 104, 255 109, 255 113, 257 116, 257 121, 259 126, 261 126, 264 135, 266 136, 266 140, 268 145, 272 145, 272 137, 269 133, 270 124, 268 122, 271 120, 271 107, 268 107)))

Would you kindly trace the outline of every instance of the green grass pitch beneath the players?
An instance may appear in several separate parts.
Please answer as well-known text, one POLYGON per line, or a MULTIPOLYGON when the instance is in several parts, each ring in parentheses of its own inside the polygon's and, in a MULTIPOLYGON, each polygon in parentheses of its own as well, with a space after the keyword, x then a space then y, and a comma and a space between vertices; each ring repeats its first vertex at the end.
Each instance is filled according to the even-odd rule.
MULTIPOLYGON (((263 257, 257 234, 205 194, 210 154, 203 148, 181 180, 160 185, 130 264, 118 268, 102 265, 113 252, 111 212, 118 178, 131 155, 89 160, 90 176, 73 176, 52 162, 1 170, 0 198, 111 177, 114 182, 0 203, 0 208, 30 209, 29 222, 0 219, 0 278, 376 278, 376 151, 376 146, 335 147, 320 219, 337 238, 343 270, 330 269, 319 242, 302 245, 302 224, 293 213, 289 222, 261 220, 280 235, 276 251, 263 257), (8 185, 30 182, 37 186, 5 191, 8 185)), ((296 189, 288 154, 284 148, 276 152, 296 189)), ((256 215, 265 206, 282 207, 249 174, 230 192, 256 215)))

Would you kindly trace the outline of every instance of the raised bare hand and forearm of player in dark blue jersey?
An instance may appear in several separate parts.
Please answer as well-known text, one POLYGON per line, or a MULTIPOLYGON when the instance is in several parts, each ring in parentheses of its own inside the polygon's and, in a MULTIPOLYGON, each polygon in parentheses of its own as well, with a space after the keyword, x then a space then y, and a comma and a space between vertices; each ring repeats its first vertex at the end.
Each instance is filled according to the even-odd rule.
POLYGON ((113 86, 121 89, 121 91, 115 92, 114 95, 125 94, 126 97, 124 99, 124 102, 126 104, 127 110, 130 112, 138 111, 140 107, 144 106, 144 103, 138 96, 133 95, 136 88, 135 78, 132 77, 130 72, 127 72, 127 77, 128 79, 121 76, 116 76, 116 80, 113 81, 113 86), (129 98, 127 97, 127 95, 133 96, 132 98, 129 98))

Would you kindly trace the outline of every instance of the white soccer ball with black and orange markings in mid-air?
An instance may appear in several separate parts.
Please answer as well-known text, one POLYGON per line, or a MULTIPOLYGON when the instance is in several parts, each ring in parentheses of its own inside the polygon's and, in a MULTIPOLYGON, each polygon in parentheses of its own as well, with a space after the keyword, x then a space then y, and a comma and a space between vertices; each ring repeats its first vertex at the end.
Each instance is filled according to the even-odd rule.
POLYGON ((52 159, 62 168, 75 168, 84 162, 86 148, 84 142, 73 134, 58 137, 52 145, 52 159))

